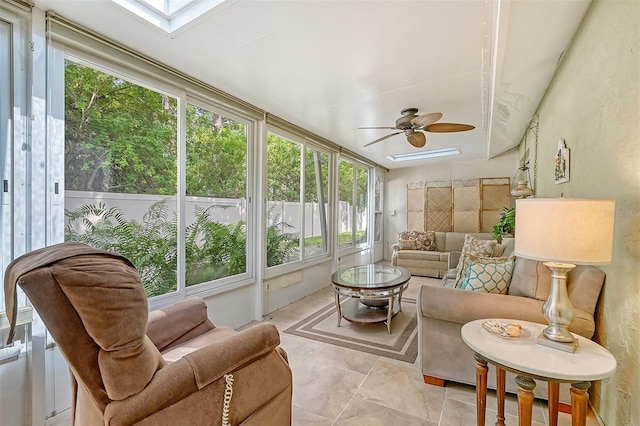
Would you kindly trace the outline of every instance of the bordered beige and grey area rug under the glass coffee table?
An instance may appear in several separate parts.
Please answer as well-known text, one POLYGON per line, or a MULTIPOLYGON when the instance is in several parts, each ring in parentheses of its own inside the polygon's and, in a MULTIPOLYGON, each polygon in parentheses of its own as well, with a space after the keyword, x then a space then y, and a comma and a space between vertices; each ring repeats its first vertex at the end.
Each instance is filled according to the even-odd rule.
MULTIPOLYGON (((343 298, 342 303, 348 299, 343 298)), ((337 324, 335 303, 330 303, 284 330, 307 339, 413 363, 418 355, 416 303, 402 299, 402 311, 391 320, 391 334, 384 323, 358 325, 342 319, 337 324)))

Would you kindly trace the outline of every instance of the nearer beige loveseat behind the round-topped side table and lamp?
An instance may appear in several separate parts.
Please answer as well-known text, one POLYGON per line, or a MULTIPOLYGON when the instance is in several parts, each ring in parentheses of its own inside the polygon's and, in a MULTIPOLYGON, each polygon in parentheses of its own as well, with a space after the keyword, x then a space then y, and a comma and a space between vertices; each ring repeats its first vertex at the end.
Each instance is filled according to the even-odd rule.
MULTIPOLYGON (((549 295, 551 272, 543 265, 525 258, 510 256, 507 243, 505 257, 515 259, 506 294, 467 291, 456 284, 451 270, 437 284, 425 284, 418 292, 419 362, 424 381, 444 386, 446 381, 475 385, 473 351, 463 342, 460 330, 467 322, 483 318, 506 318, 547 324, 542 305, 549 295), (456 287, 457 285, 457 287, 456 287)), ((452 260, 459 257, 452 256, 452 260)), ((586 338, 595 332, 594 312, 605 274, 591 266, 577 266, 569 273, 567 291, 575 310, 569 330, 586 338)), ((553 350, 553 349, 550 349, 553 350)), ((490 366, 493 370, 493 367, 490 366)), ((507 392, 516 393, 514 376, 507 373, 507 392)), ((495 371, 488 375, 488 387, 496 388, 495 371)), ((547 386, 535 388, 536 397, 548 399, 547 386)), ((560 386, 560 402, 571 401, 569 386, 560 386)))

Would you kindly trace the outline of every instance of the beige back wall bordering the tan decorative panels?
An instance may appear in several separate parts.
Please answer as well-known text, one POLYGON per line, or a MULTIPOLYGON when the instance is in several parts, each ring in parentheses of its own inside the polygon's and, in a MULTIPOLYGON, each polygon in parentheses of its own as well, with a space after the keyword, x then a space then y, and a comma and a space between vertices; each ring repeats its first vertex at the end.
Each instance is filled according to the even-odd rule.
MULTIPOLYGON (((524 130, 524 123, 522 129, 524 130)), ((407 184, 483 177, 513 178, 517 168, 518 155, 512 152, 492 160, 442 163, 389 171, 385 176, 384 258, 391 258, 390 247, 397 242, 398 232, 407 230, 407 184)))

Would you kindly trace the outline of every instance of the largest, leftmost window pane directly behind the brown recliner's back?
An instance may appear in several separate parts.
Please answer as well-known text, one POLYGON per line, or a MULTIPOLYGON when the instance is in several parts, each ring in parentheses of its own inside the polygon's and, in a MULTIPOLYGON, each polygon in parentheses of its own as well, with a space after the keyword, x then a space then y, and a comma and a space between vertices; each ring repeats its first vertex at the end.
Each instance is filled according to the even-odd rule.
POLYGON ((65 240, 129 258, 149 297, 177 290, 177 100, 65 63, 65 240))

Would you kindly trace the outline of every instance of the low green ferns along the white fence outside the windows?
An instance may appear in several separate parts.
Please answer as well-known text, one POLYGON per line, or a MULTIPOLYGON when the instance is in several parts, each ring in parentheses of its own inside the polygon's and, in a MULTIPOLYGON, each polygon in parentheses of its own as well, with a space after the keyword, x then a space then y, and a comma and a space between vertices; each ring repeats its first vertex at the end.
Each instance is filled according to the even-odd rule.
MULTIPOLYGON (((195 285, 246 272, 246 226, 225 225, 211 218, 213 208, 196 208, 185 229, 186 285, 195 285)), ((149 207, 142 222, 128 220, 117 207, 86 204, 66 210, 66 241, 121 254, 134 264, 148 297, 177 289, 177 219, 169 218, 167 200, 149 207), (84 228, 79 232, 78 228, 84 228)), ((298 235, 281 230, 284 222, 267 229, 267 265, 288 262, 298 250, 298 235)))

